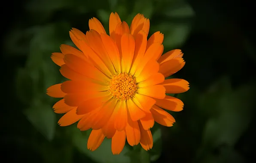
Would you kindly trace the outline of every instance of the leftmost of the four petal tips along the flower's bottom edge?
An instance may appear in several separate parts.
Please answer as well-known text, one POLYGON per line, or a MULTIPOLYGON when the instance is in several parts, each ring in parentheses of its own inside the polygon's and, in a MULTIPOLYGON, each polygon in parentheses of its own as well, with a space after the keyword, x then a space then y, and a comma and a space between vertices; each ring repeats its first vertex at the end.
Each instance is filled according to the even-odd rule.
POLYGON ((95 151, 103 142, 105 136, 103 135, 101 129, 100 130, 92 130, 91 134, 88 138, 87 148, 90 151, 95 151))

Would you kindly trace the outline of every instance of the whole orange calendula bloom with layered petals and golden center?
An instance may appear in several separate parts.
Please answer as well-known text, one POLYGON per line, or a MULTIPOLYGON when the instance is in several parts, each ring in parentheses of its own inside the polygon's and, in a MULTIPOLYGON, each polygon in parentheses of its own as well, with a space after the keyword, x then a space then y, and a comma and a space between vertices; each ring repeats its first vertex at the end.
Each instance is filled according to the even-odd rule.
POLYGON ((58 121, 68 126, 92 129, 87 147, 96 150, 105 137, 112 139, 112 152, 119 154, 125 145, 140 145, 149 150, 154 122, 172 126, 174 118, 165 110, 183 109, 183 102, 168 94, 189 89, 183 79, 165 77, 185 64, 176 49, 163 53, 164 35, 154 33, 147 40, 149 19, 137 14, 129 27, 117 13, 110 14, 109 33, 97 18, 89 20, 86 34, 72 28, 70 38, 78 49, 61 45, 52 60, 61 74, 70 79, 47 89, 51 97, 63 98, 53 106, 66 113, 58 121), (163 109, 162 109, 163 108, 163 109))

